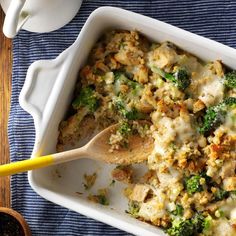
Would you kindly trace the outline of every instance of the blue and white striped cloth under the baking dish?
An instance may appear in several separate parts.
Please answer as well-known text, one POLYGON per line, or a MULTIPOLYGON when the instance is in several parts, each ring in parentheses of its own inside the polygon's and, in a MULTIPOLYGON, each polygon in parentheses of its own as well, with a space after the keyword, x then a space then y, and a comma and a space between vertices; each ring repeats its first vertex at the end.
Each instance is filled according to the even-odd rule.
MULTIPOLYGON (((11 161, 28 158, 34 145, 32 117, 18 102, 28 66, 38 59, 55 58, 74 42, 89 14, 106 5, 135 11, 236 48, 235 0, 84 0, 77 16, 62 29, 47 34, 21 31, 13 41, 11 161)), ((26 174, 12 177, 11 190, 12 207, 24 215, 33 236, 128 235, 42 199, 30 188, 26 174)))

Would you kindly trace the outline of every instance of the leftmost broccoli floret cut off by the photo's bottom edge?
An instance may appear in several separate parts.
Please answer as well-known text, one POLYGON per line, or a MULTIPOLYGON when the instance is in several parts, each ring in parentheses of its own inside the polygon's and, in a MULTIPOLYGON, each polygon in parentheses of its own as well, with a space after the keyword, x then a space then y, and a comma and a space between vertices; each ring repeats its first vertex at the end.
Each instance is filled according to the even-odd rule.
POLYGON ((194 225, 191 220, 175 219, 166 231, 170 236, 193 236, 194 225))

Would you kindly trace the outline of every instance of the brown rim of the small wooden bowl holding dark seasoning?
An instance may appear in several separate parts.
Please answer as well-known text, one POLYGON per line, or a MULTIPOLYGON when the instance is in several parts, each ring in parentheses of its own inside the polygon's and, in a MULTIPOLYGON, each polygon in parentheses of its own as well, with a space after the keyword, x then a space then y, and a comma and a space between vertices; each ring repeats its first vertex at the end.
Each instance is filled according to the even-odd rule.
POLYGON ((12 210, 10 208, 0 207, 0 214, 1 213, 7 214, 7 215, 13 217, 14 219, 16 219, 17 222, 19 223, 19 225, 21 225, 21 227, 23 229, 24 236, 32 236, 29 225, 27 224, 24 217, 20 213, 12 210))

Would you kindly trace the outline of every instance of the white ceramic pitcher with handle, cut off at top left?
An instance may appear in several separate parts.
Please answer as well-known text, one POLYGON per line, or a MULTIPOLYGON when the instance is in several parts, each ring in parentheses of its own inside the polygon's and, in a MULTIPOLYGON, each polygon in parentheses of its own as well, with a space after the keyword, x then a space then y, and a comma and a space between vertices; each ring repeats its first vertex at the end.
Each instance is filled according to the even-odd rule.
POLYGON ((3 32, 13 38, 18 31, 50 32, 71 21, 82 0, 1 0, 6 13, 3 32))

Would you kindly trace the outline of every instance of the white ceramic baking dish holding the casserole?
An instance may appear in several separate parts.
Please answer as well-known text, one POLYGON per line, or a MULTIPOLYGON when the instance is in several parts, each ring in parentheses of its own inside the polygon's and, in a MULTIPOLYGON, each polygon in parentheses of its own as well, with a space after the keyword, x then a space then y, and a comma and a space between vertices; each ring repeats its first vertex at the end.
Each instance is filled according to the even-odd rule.
MULTIPOLYGON (((54 60, 34 62, 28 69, 20 94, 20 104, 33 118, 36 140, 32 157, 55 152, 58 125, 71 102, 78 71, 85 63, 91 47, 107 29, 138 30, 150 40, 171 41, 199 58, 221 59, 236 69, 236 50, 189 33, 164 22, 114 7, 95 10, 86 21, 78 38, 54 60)), ((97 172, 98 179, 91 193, 108 187, 114 166, 91 160, 79 160, 29 172, 31 187, 42 197, 76 212, 92 217, 136 235, 164 235, 163 231, 131 218, 125 213, 127 200, 124 186, 109 187, 110 205, 101 206, 87 200, 83 175, 97 172)), ((136 167, 140 173, 142 167, 136 167)))

